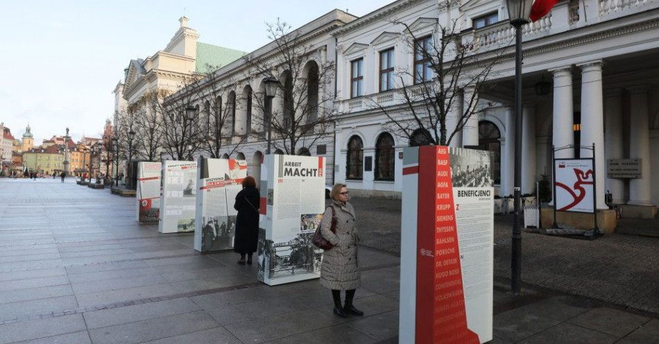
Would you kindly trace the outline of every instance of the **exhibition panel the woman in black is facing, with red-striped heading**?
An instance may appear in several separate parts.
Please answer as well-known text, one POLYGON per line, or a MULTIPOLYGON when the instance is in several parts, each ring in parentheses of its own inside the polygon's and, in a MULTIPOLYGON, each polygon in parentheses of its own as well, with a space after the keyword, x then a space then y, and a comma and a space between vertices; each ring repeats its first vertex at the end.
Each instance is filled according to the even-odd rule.
POLYGON ((200 157, 197 169, 197 207, 194 249, 229 250, 234 246, 236 195, 247 177, 247 162, 200 157))

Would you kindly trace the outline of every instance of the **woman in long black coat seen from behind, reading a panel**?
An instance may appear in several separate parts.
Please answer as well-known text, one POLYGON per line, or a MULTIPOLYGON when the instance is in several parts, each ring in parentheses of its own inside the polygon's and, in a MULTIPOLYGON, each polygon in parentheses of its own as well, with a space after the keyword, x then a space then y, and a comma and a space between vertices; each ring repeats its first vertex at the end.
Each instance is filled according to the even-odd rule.
POLYGON ((238 211, 236 217, 236 236, 234 239, 235 252, 240 253, 238 264, 252 265, 252 255, 256 252, 259 241, 259 190, 253 177, 243 180, 243 189, 236 195, 236 204, 233 206, 238 211))

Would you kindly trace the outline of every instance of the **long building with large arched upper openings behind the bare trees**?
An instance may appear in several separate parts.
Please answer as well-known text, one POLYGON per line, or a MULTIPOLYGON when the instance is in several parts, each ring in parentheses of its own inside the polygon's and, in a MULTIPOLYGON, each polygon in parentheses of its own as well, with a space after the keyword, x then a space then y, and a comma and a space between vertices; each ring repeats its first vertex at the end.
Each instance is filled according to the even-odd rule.
MULTIPOLYGON (((338 53, 335 49, 336 41, 331 35, 332 31, 352 22, 356 18, 342 10, 332 10, 287 33, 287 39, 294 38, 300 46, 303 46, 298 51, 304 51, 305 55, 299 56, 304 62, 300 65, 302 67, 299 68, 300 70, 291 72, 284 65, 275 66, 273 76, 279 80, 282 88, 287 88, 288 86, 284 85, 288 85, 289 82, 309 83, 308 87, 299 88, 303 89, 305 94, 295 94, 293 96, 307 99, 307 105, 311 105, 314 100, 331 98, 330 105, 333 107, 333 98, 336 92, 334 71, 332 70, 331 74, 325 75, 327 83, 318 82, 319 68, 333 65, 338 53), (316 80, 315 85, 311 85, 311 83, 314 83, 313 80, 316 80)), ((201 87, 212 88, 212 94, 216 94, 216 98, 210 102, 207 98, 201 96, 209 94, 208 90, 193 91, 200 95, 191 103, 191 105, 198 106, 200 109, 200 119, 205 118, 205 112, 210 106, 223 106, 232 109, 234 114, 230 120, 230 126, 227 126, 225 130, 228 133, 233 133, 234 136, 223 144, 221 157, 247 160, 248 174, 253 175, 257 181, 260 178, 262 158, 266 153, 264 123, 262 120, 257 120, 258 118, 264 118, 262 104, 265 92, 263 83, 265 76, 261 70, 271 64, 286 60, 291 61, 289 58, 282 58, 282 51, 291 53, 293 50, 282 48, 277 46, 276 42, 271 42, 248 53, 249 60, 236 60, 218 69, 213 75, 207 76, 205 83, 201 83, 203 85, 201 87), (212 85, 210 85, 211 83, 212 85)), ((181 92, 185 91, 187 90, 181 92)), ((282 92, 277 93, 277 96, 273 99, 273 116, 284 115, 284 103, 286 103, 287 97, 290 96, 284 95, 282 92)), ((318 112, 325 110, 330 109, 318 108, 318 112)), ((322 116, 323 114, 318 114, 318 117, 322 116)), ((331 128, 316 128, 311 135, 301 135, 299 141, 296 142, 295 153, 326 157, 327 182, 331 183, 334 180, 334 157, 336 155, 334 155, 333 149, 334 136, 328 130, 331 130, 331 128), (320 135, 319 130, 325 130, 326 134, 320 135)), ((282 145, 286 144, 286 140, 282 139, 274 130, 272 141, 272 153, 284 153, 285 148, 282 145)), ((207 153, 203 153, 203 151, 196 153, 196 155, 200 154, 207 156, 207 153)))

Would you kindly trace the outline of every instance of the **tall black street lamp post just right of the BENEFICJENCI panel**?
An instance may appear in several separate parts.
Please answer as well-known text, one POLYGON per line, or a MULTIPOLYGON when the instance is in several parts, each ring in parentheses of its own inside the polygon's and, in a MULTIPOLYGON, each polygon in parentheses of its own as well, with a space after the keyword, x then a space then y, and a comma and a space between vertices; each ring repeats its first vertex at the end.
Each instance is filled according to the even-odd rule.
POLYGON ((522 228, 520 197, 522 196, 522 26, 530 22, 533 0, 506 0, 508 18, 515 28, 515 173, 513 180, 515 212, 511 250, 511 291, 522 289, 522 228))

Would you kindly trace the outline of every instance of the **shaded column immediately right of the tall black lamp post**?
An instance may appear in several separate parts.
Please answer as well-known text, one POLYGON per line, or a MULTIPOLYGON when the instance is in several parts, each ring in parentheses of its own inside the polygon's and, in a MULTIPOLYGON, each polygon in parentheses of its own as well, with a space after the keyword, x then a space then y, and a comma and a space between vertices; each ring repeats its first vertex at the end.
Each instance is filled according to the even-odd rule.
POLYGON ((522 108, 522 195, 536 191, 536 107, 522 108))

